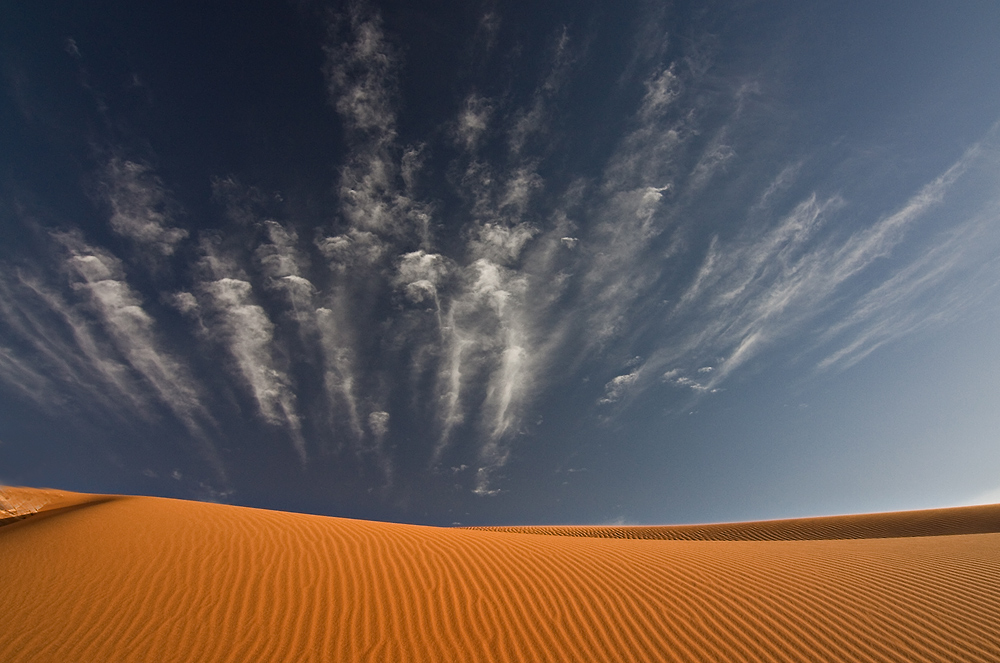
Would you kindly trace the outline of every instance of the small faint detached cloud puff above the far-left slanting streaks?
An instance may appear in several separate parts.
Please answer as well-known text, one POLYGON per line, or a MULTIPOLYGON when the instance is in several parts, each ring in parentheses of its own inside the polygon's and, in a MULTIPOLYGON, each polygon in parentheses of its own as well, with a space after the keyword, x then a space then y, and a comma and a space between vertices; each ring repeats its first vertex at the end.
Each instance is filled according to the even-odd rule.
POLYGON ((105 169, 104 186, 111 228, 119 235, 165 256, 188 236, 186 230, 171 225, 176 203, 148 166, 115 157, 105 169))

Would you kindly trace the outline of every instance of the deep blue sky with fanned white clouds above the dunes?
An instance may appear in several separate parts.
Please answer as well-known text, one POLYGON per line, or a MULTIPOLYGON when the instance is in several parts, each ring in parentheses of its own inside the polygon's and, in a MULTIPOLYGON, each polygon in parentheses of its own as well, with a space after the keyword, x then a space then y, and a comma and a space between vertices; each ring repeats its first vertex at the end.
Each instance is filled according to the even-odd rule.
POLYGON ((992 0, 2 6, 2 483, 1000 501, 992 0))

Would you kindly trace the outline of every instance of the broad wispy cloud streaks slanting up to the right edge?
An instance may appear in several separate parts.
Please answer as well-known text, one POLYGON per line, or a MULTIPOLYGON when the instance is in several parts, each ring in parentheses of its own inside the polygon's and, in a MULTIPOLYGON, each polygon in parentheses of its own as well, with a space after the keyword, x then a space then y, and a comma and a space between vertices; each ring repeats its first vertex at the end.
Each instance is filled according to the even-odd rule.
MULTIPOLYGON (((838 321, 825 327, 819 343, 840 347, 818 366, 849 366, 883 343, 968 310, 971 292, 955 278, 960 266, 969 269, 972 252, 982 254, 975 250, 976 237, 986 227, 982 216, 959 224, 943 241, 887 273, 875 268, 944 204, 984 149, 984 143, 973 146, 899 209, 847 237, 833 223, 844 214, 846 201, 816 194, 771 227, 731 240, 714 237, 701 267, 663 320, 669 342, 640 368, 642 380, 632 382, 642 388, 664 379, 711 391, 779 339, 801 335, 829 315, 838 321), (956 288, 967 296, 959 296, 956 288), (715 360, 711 373, 691 377, 698 365, 715 360)), ((768 191, 790 172, 782 171, 768 191)), ((996 194, 982 188, 975 192, 988 199, 996 194)), ((980 255, 973 263, 985 266, 984 261, 980 255)), ((979 289, 986 285, 977 283, 979 289)))

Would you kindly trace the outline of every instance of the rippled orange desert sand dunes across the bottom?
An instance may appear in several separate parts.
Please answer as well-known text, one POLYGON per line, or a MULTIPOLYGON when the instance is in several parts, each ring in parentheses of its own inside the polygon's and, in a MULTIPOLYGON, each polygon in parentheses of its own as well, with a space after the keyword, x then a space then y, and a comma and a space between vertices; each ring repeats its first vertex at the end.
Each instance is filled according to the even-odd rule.
POLYGON ((436 528, 0 492, 0 661, 1000 661, 1000 506, 436 528))

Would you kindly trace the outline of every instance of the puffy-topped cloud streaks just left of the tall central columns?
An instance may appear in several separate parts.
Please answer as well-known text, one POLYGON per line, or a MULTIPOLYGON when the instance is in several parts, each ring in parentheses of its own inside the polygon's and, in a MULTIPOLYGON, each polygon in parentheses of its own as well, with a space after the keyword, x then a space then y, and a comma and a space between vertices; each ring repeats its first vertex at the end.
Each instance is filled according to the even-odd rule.
MULTIPOLYGON (((279 338, 284 320, 294 320, 303 361, 310 370, 318 368, 322 379, 325 398, 312 412, 316 421, 324 422, 317 442, 346 437, 356 452, 366 451, 360 446, 364 429, 354 360, 355 328, 361 322, 351 311, 348 285, 324 283, 321 291, 307 278, 311 270, 309 245, 300 242, 291 224, 262 216, 263 204, 256 189, 232 178, 217 181, 217 186, 225 193, 218 198, 226 215, 251 230, 255 241, 249 256, 241 255, 238 249, 223 248, 217 241, 202 242, 201 271, 207 279, 201 284, 197 306, 203 311, 199 314, 204 318, 203 335, 229 349, 233 367, 261 415, 289 433, 305 461, 300 399, 289 365, 294 354, 287 347, 288 336, 279 338), (278 295, 286 316, 272 319, 257 300, 251 280, 258 274, 264 290, 278 295)), ((378 263, 390 246, 374 233, 357 229, 335 236, 325 236, 317 229, 312 245, 334 275, 350 276, 366 287, 371 286, 370 277, 376 284, 381 280, 378 263)), ((180 306, 191 309, 190 299, 185 296, 180 306)), ((175 306, 180 307, 178 303, 175 306)))

